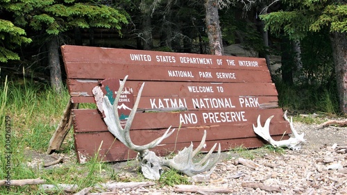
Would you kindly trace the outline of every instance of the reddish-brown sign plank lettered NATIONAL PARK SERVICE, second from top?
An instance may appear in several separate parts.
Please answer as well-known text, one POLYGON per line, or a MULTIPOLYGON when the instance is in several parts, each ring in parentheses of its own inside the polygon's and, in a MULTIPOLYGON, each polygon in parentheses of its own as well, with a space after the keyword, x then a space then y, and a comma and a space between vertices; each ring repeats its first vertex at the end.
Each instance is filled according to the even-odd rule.
POLYGON ((128 75, 129 80, 167 80, 192 82, 271 83, 269 70, 201 69, 201 67, 166 67, 155 65, 119 65, 90 62, 69 63, 68 78, 100 79, 119 78, 128 75), (136 71, 134 71, 136 70, 136 71))

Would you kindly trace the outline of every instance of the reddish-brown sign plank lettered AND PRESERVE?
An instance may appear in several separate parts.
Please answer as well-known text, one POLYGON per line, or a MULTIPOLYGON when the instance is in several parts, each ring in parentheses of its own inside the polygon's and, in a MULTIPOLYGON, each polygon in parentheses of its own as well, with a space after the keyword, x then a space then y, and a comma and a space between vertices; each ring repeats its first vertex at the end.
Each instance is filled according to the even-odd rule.
MULTIPOLYGON (((92 131, 108 131, 107 126, 105 125, 103 119, 99 115, 97 110, 84 110, 77 109, 72 110, 74 115, 74 130, 76 133, 86 133, 92 131)), ((235 120, 235 121, 221 121, 221 114, 214 113, 223 113, 228 112, 226 110, 220 111, 195 111, 195 112, 143 112, 137 113, 134 117, 133 124, 131 129, 160 129, 168 128, 178 128, 180 126, 180 117, 184 115, 195 114, 196 123, 182 123, 182 127, 194 127, 194 126, 224 126, 226 128, 232 128, 232 126, 237 126, 239 124, 246 124, 248 126, 248 131, 253 134, 252 124, 255 124, 257 121, 257 116, 261 115, 261 122, 264 124, 266 119, 271 115, 274 115, 271 120, 272 123, 285 121, 282 117, 282 109, 266 109, 266 110, 245 110, 244 111, 244 120, 235 120), (251 113, 250 113, 251 112, 251 113), (204 113, 212 113, 208 115, 207 118, 203 118, 206 115, 204 113), (210 118, 211 117, 211 118, 210 118), (219 117, 219 119, 216 119, 219 117), (213 120, 214 119, 214 120, 213 120)), ((229 111, 230 112, 230 111, 229 111)), ((235 111, 240 112, 240 111, 235 111)), ((229 118, 231 120, 231 118, 229 118)), ((234 119, 234 118, 232 118, 234 119)), ((237 118, 241 119, 241 118, 237 118)), ((282 129, 280 129, 282 133, 282 129)))

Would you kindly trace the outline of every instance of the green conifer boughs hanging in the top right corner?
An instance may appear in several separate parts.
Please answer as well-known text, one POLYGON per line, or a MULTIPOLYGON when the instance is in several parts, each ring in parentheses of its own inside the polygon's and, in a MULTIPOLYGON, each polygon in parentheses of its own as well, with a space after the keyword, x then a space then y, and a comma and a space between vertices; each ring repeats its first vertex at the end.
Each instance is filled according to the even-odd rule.
POLYGON ((308 31, 347 31, 347 4, 342 1, 294 1, 282 2, 285 10, 261 15, 265 28, 273 33, 284 31, 292 40, 300 40, 308 31))

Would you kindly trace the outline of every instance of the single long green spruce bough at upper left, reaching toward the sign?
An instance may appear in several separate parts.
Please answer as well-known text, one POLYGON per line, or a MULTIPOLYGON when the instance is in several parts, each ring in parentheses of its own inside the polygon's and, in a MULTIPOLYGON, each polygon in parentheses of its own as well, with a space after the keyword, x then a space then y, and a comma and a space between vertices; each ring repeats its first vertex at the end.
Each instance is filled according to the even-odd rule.
POLYGON ((80 28, 115 28, 120 30, 121 24, 128 21, 119 10, 110 6, 96 5, 93 1, 27 1, 13 3, 24 12, 12 10, 18 24, 28 24, 34 31, 46 31, 58 35, 74 27, 80 28), (23 19, 24 17, 24 19, 23 19), (25 21, 25 22, 23 22, 25 21))

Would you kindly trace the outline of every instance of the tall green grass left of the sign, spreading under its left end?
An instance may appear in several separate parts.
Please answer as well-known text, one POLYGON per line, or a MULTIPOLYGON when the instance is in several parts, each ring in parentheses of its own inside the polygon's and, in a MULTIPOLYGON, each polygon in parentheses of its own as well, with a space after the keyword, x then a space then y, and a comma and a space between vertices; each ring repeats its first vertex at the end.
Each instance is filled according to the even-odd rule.
MULTIPOLYGON (((65 89, 62 94, 52 90, 49 85, 35 83, 33 80, 12 81, 5 79, 0 85, 0 179, 8 176, 6 170, 6 116, 10 117, 10 179, 42 178, 49 184, 78 185, 78 189, 105 183, 111 178, 112 168, 92 158, 86 164, 76 163, 76 156, 62 167, 43 169, 30 166, 31 153, 44 153, 65 110, 69 94, 65 89), (108 174, 109 173, 109 174, 108 174)), ((95 105, 83 105, 83 107, 95 105)), ((73 131, 65 138, 62 145, 64 153, 74 154, 73 131)), ((36 185, 24 187, 0 187, 0 194, 46 194, 36 185)), ((64 194, 56 192, 53 194, 64 194)))

